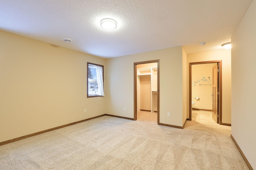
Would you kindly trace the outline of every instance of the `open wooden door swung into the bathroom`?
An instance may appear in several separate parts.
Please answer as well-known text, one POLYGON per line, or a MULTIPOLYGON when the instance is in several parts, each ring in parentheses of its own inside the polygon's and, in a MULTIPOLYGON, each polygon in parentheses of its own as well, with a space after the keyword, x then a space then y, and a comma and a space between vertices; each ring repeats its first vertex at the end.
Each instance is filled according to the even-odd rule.
POLYGON ((216 123, 219 123, 218 117, 218 63, 212 66, 212 77, 213 77, 213 84, 212 84, 212 118, 216 123))

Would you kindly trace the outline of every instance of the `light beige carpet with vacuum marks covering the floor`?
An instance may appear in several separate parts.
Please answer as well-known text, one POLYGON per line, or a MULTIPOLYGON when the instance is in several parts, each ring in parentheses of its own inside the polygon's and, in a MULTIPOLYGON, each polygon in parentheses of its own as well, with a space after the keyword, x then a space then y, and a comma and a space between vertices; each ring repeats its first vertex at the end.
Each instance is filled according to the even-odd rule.
POLYGON ((248 170, 231 127, 210 114, 193 111, 184 129, 157 125, 150 112, 99 117, 0 146, 0 170, 248 170))

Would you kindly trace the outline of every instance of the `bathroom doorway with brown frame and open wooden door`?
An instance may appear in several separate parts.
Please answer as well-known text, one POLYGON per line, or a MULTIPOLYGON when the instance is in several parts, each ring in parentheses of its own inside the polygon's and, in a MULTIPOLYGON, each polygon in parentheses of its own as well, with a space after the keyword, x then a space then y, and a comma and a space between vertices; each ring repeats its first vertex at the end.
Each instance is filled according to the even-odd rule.
POLYGON ((212 119, 222 124, 222 61, 189 63, 189 82, 189 120, 192 109, 211 111, 212 119))

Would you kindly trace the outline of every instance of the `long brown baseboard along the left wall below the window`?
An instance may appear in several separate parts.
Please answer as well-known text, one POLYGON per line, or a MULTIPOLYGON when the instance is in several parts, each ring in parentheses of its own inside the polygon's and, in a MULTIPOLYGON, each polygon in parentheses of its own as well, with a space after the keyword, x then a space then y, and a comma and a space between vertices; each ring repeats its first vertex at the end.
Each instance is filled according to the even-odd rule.
MULTIPOLYGON (((104 114, 104 115, 106 115, 106 114, 104 114)), ((26 138, 28 138, 28 137, 40 135, 40 134, 42 134, 42 133, 54 131, 54 130, 60 129, 60 128, 62 128, 62 127, 67 127, 67 126, 75 125, 75 124, 77 124, 77 123, 82 123, 82 122, 84 122, 84 121, 88 121, 88 120, 91 120, 91 119, 95 119, 95 118, 98 118, 98 117, 102 117, 102 116, 104 116, 104 115, 99 115, 99 116, 91 117, 91 118, 88 118, 88 119, 76 121, 76 122, 73 122, 73 123, 68 123, 68 124, 66 124, 66 125, 62 125, 62 126, 58 126, 58 127, 53 127, 53 128, 51 128, 51 129, 46 129, 46 130, 44 130, 44 131, 32 133, 32 134, 25 135, 25 136, 22 136, 22 137, 17 137, 17 138, 14 138, 14 139, 10 139, 10 140, 8 140, 8 141, 3 141, 3 142, 0 142, 0 146, 1 146, 1 145, 6 145, 6 144, 12 143, 12 142, 20 141, 20 140, 26 139, 26 138)))

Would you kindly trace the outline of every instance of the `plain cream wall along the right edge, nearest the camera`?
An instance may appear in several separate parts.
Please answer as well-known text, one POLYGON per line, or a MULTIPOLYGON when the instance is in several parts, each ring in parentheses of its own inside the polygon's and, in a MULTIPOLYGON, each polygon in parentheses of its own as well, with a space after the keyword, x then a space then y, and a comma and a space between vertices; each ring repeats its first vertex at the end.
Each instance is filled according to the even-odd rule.
POLYGON ((256 1, 232 36, 232 131, 253 169, 256 169, 256 1))

